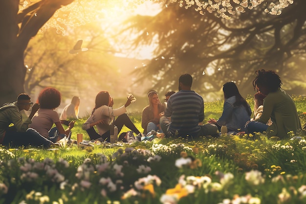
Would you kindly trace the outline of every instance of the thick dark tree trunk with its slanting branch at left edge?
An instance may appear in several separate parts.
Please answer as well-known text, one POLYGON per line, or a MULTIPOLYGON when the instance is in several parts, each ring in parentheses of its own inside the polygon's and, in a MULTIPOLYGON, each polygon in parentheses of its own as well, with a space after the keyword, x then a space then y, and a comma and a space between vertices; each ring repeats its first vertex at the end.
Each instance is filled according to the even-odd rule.
POLYGON ((15 101, 24 91, 23 54, 30 39, 56 10, 72 1, 41 0, 18 13, 19 0, 0 0, 0 105, 15 101))

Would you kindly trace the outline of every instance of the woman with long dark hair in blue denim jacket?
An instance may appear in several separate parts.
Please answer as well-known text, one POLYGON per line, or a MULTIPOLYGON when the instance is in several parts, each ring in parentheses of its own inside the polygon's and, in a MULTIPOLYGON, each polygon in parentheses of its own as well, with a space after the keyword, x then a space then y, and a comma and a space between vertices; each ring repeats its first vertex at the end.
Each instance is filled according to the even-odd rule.
POLYGON ((227 132, 242 132, 244 125, 250 120, 252 114, 250 105, 241 96, 234 82, 223 85, 224 104, 223 113, 218 120, 210 119, 208 122, 216 124, 219 131, 221 126, 227 127, 227 132))

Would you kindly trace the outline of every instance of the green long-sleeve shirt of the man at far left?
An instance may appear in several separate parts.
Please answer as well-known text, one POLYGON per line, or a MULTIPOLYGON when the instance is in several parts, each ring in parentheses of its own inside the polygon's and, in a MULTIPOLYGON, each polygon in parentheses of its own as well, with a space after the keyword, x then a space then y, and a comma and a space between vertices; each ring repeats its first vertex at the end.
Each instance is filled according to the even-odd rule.
POLYGON ((32 123, 31 119, 27 118, 22 121, 22 115, 17 106, 17 102, 6 104, 0 108, 0 143, 3 141, 5 130, 13 123, 18 132, 25 132, 32 123))

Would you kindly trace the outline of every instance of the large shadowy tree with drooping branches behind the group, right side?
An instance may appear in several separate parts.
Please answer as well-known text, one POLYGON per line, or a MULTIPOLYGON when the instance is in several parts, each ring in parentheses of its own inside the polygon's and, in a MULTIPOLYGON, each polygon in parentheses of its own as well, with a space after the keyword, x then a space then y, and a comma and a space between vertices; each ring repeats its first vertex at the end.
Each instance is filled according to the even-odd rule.
POLYGON ((255 70, 263 68, 277 71, 292 93, 305 90, 306 72, 300 64, 305 63, 305 0, 295 0, 281 15, 270 15, 261 4, 230 19, 164 3, 156 16, 125 22, 125 30, 139 33, 134 47, 155 39, 156 57, 135 71, 139 78, 153 79, 153 89, 176 90, 179 75, 188 72, 200 93, 216 98, 225 82, 234 81, 246 95, 252 93, 255 70))

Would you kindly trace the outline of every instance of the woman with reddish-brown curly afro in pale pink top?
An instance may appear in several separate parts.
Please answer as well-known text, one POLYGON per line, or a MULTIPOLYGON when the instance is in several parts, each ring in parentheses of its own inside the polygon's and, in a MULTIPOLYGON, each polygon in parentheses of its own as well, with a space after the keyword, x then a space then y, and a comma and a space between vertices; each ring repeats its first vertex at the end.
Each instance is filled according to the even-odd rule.
POLYGON ((61 104, 60 91, 54 88, 45 88, 38 96, 38 103, 40 109, 33 116, 30 128, 35 129, 52 142, 57 142, 64 136, 68 136, 69 139, 75 121, 71 121, 68 128, 64 130, 59 114, 54 111, 61 104), (55 128, 52 128, 53 124, 55 124, 55 128))

